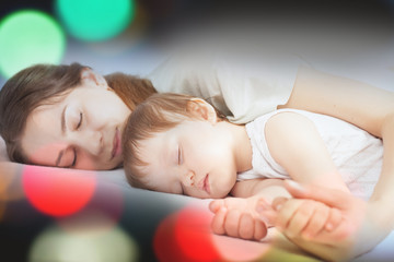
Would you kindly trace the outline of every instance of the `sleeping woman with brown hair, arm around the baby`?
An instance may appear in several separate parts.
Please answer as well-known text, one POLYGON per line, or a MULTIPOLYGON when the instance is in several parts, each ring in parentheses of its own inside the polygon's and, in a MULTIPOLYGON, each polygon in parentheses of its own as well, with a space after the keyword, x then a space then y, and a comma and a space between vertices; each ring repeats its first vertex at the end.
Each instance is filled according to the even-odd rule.
MULTIPOLYGON (((155 73, 160 75, 157 81, 166 79, 166 83, 172 84, 160 86, 160 82, 154 82, 159 84, 155 87, 163 91, 169 86, 166 92, 212 98, 213 105, 220 104, 218 108, 228 115, 232 114, 239 122, 251 119, 235 110, 248 111, 245 108, 252 108, 252 111, 260 115, 276 108, 296 108, 343 119, 382 138, 383 168, 368 209, 372 215, 385 214, 385 225, 393 228, 394 211, 381 204, 393 199, 393 93, 305 67, 298 71, 285 70, 286 75, 258 72, 260 81, 248 78, 244 86, 236 88, 247 75, 241 75, 237 82, 230 71, 212 71, 211 63, 198 66, 198 69, 204 70, 194 71, 182 64, 182 70, 172 71, 173 76, 167 73, 169 66, 162 67, 163 73, 155 73), (297 72, 297 75, 292 72, 297 72), (267 75, 273 79, 265 81, 267 75), (229 78, 233 79, 227 81, 229 78), (281 78, 289 81, 281 81, 281 78), (235 87, 229 88, 232 82, 235 87), (265 86, 260 86, 260 83, 265 83, 265 86), (382 199, 385 201, 380 201, 382 199)), ((269 70, 275 68, 269 66, 269 70)), ((283 64, 276 66, 277 72, 280 72, 283 64)), ((11 160, 82 169, 116 168, 121 165, 119 138, 127 116, 136 104, 154 92, 148 80, 129 79, 123 74, 103 78, 79 64, 36 66, 15 74, 2 87, 0 134, 7 143, 11 160)), ((363 207, 360 204, 349 209, 361 211, 363 207)), ((347 212, 345 215, 351 221, 356 219, 354 214, 347 212)), ((361 225, 359 228, 363 229, 361 225)), ((386 231, 375 230, 369 236, 369 242, 379 242, 386 231)), ((346 247, 362 242, 362 238, 358 238, 357 242, 352 237, 347 239, 350 240, 346 247)), ((325 241, 316 245, 335 243, 338 250, 345 247, 338 245, 340 241, 329 238, 325 241)), ((358 252, 369 248, 362 247, 358 252)), ((313 251, 318 253, 321 250, 315 248, 313 251)))

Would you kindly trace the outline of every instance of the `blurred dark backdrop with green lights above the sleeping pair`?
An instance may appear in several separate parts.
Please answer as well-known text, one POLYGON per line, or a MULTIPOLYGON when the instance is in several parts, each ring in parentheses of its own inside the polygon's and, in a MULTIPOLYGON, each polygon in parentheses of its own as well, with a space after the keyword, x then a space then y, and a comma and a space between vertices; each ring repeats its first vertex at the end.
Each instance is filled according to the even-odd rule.
MULTIPOLYGON (((181 49, 282 49, 331 71, 346 69, 351 74, 358 68, 363 70, 357 72, 362 76, 382 69, 393 72, 393 47, 392 0, 0 3, 1 85, 20 69, 37 62, 78 61, 101 73, 143 75, 181 49)), ((378 78, 383 78, 381 74, 378 78)))

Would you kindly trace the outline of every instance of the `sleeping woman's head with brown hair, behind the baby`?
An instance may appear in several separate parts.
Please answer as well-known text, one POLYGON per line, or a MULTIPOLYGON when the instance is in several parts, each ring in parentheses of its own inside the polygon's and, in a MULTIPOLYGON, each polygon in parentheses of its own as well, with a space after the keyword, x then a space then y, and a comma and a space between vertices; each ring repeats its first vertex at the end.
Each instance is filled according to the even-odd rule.
POLYGON ((104 79, 78 63, 25 69, 0 95, 9 157, 46 166, 116 168, 123 122, 154 92, 148 80, 125 74, 104 79))

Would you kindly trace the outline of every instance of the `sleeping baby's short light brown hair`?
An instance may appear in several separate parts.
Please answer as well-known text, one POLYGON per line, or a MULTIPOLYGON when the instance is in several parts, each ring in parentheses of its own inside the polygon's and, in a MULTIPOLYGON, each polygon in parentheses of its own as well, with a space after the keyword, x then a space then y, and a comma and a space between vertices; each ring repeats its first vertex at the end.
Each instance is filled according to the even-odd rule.
MULTIPOLYGON (((154 190, 143 181, 144 174, 140 167, 147 163, 139 157, 139 143, 155 133, 176 127, 186 119, 200 119, 188 109, 189 103, 195 103, 193 98, 173 93, 154 94, 139 104, 129 116, 121 141, 126 178, 132 187, 154 190)), ((215 110, 219 121, 227 121, 221 111, 217 108, 215 110)))

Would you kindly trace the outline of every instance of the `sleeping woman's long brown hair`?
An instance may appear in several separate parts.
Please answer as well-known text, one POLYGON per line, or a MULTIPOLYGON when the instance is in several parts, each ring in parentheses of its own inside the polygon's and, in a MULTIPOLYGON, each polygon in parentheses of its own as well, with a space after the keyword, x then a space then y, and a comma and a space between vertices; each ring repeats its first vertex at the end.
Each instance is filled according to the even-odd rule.
MULTIPOLYGON (((26 119, 37 107, 56 103, 81 83, 88 67, 72 64, 36 64, 13 75, 0 91, 0 135, 11 160, 26 163, 20 143, 26 119)), ((114 73, 104 76, 108 85, 134 110, 136 105, 157 93, 149 80, 114 73)))

